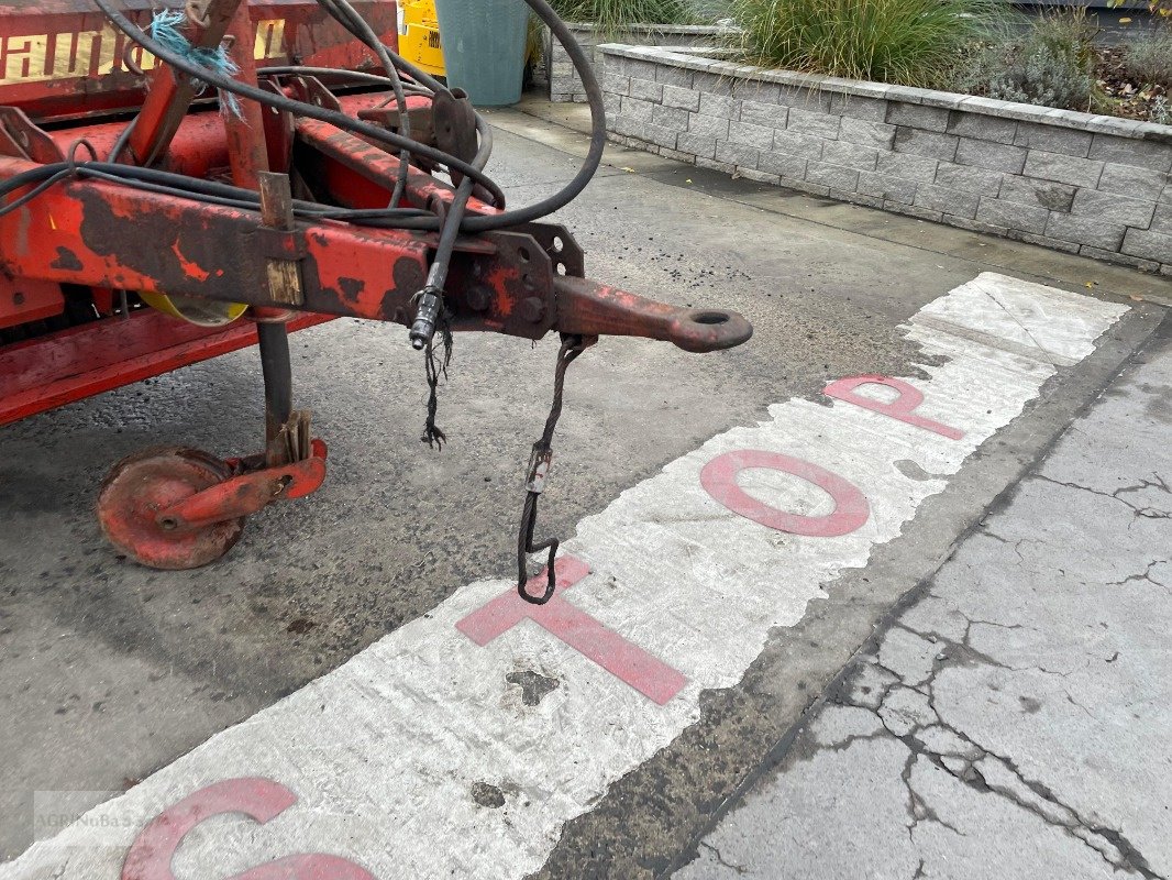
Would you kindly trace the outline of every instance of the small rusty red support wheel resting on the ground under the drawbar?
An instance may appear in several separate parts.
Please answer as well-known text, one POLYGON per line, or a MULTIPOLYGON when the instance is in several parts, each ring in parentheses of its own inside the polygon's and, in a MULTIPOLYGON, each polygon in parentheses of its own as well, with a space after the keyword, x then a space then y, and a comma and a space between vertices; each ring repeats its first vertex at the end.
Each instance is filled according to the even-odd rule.
POLYGON ((199 449, 156 446, 128 455, 110 469, 97 496, 102 532, 150 568, 177 570, 214 562, 240 539, 243 516, 186 529, 169 527, 157 516, 230 476, 227 465, 199 449))

